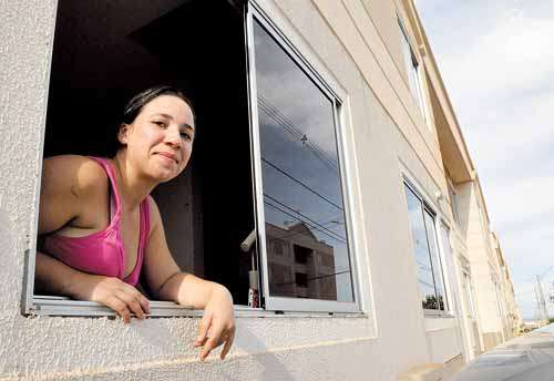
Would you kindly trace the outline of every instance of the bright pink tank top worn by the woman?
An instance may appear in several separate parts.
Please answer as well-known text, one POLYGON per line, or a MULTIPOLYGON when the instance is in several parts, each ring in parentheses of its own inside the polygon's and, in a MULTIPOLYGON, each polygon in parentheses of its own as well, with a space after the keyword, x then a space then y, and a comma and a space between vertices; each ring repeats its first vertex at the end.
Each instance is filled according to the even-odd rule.
POLYGON ((84 237, 66 237, 51 234, 44 237, 43 249, 54 258, 78 270, 116 277, 135 286, 138 282, 144 250, 150 231, 148 198, 140 205, 140 231, 136 264, 125 277, 125 249, 121 236, 121 203, 115 175, 110 162, 105 158, 90 157, 99 163, 107 174, 112 187, 110 203, 112 210, 110 225, 101 231, 84 237), (113 207, 115 204, 115 208, 113 207), (113 212, 115 209, 115 213, 113 212))

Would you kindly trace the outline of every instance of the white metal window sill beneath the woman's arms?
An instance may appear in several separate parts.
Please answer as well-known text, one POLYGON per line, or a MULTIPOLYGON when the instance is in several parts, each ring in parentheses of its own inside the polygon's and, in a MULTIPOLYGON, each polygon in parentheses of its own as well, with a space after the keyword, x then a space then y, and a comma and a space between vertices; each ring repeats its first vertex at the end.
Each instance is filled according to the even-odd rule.
MULTIPOLYGON (((172 301, 151 301, 147 318, 201 318, 203 310, 179 306, 172 301)), ((261 308, 235 305, 237 318, 367 318, 363 312, 296 312, 268 311, 261 308)), ((30 316, 58 317, 115 317, 115 312, 94 301, 72 300, 64 297, 34 296, 30 316)))

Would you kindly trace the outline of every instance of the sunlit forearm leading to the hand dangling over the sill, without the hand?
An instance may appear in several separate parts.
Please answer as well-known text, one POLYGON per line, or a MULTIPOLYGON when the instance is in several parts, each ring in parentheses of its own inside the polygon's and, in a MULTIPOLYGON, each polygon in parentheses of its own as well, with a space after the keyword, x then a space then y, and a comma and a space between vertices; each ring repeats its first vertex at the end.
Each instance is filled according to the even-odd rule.
POLYGON ((178 272, 162 286, 160 298, 182 306, 204 309, 214 292, 224 294, 233 300, 229 291, 222 285, 201 279, 192 274, 178 272))

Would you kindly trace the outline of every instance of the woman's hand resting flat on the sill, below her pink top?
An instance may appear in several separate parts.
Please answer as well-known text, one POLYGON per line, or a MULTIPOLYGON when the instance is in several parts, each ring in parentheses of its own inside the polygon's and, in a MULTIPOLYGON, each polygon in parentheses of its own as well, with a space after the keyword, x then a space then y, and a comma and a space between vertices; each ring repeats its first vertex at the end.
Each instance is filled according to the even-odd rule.
POLYGON ((96 301, 104 305, 123 318, 125 323, 131 322, 131 315, 144 319, 150 313, 150 301, 133 286, 119 278, 99 275, 80 274, 72 292, 78 299, 96 301))

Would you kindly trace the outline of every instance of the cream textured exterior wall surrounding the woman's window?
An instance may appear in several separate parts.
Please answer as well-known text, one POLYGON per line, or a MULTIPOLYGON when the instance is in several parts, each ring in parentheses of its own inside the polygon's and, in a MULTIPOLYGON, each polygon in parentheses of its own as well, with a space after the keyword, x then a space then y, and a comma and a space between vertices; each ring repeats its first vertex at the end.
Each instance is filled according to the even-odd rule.
POLYGON ((461 353, 458 321, 425 318, 419 300, 402 175, 417 179, 441 216, 449 218, 450 210, 434 199, 438 190, 448 193, 441 153, 396 64, 396 27, 379 24, 387 35, 381 39, 367 13, 377 9, 396 23, 393 7, 356 0, 259 4, 347 95, 346 156, 367 315, 238 318, 228 360, 207 363, 197 361, 191 344, 196 318, 124 326, 109 318, 23 317, 23 254, 34 246, 55 1, 3 1, 0 171, 10 181, 0 185, 0 377, 382 381, 461 353))

